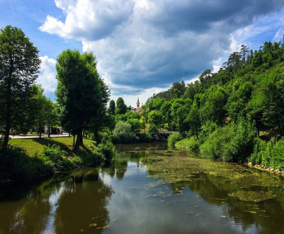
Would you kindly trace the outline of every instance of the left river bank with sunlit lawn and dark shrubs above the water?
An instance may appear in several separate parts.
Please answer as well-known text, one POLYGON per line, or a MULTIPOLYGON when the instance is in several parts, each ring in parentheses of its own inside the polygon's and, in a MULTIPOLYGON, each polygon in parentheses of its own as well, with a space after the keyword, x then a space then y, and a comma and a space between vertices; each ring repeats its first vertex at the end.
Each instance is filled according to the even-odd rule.
POLYGON ((99 164, 104 160, 95 141, 83 139, 79 157, 72 152, 73 138, 11 139, 0 152, 0 181, 37 180, 57 171, 99 164))

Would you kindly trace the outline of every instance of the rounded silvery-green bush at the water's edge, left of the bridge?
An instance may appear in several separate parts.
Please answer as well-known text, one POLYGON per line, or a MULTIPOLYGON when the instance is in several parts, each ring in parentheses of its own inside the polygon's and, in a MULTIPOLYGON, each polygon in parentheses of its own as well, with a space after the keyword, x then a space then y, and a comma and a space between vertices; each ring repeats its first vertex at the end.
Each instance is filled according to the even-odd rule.
POLYGON ((130 123, 118 121, 115 125, 114 136, 118 143, 134 143, 137 137, 131 130, 130 123))

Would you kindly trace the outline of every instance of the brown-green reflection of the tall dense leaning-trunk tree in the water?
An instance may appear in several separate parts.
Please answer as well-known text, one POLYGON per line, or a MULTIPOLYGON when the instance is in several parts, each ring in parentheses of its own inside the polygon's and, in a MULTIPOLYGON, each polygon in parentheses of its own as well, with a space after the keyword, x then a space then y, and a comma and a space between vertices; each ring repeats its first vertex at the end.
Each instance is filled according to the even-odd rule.
POLYGON ((97 168, 80 168, 70 174, 62 187, 54 218, 56 233, 87 231, 95 223, 92 233, 101 233, 109 223, 106 209, 113 190, 99 178, 97 168))

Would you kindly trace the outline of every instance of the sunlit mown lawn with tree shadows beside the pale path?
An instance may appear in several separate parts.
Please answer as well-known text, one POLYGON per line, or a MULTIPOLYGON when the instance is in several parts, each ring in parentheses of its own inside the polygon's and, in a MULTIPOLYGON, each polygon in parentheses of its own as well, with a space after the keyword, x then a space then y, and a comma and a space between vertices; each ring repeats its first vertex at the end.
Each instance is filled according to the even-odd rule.
MULTIPOLYGON (((75 137, 76 141, 76 137, 75 137)), ((9 145, 17 146, 26 151, 29 156, 34 156, 37 152, 40 154, 40 151, 43 149, 43 145, 59 145, 62 150, 71 152, 73 148, 73 137, 54 137, 54 138, 42 138, 42 139, 11 139, 9 140, 9 145)), ((83 138, 84 146, 80 146, 79 156, 83 154, 88 154, 94 151, 96 147, 96 142, 83 138)))

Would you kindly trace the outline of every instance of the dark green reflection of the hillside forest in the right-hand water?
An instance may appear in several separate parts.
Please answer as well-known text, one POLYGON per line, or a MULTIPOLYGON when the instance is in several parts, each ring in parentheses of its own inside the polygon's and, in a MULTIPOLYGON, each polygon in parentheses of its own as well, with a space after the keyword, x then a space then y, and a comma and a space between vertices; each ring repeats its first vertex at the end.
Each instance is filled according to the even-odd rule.
POLYGON ((224 207, 230 219, 242 225, 244 231, 252 225, 263 233, 280 233, 284 230, 284 191, 281 187, 239 188, 234 183, 220 176, 207 173, 196 174, 191 181, 176 182, 170 184, 175 194, 181 193, 188 187, 191 191, 199 193, 202 199, 210 204, 224 207), (261 202, 241 200, 231 196, 233 191, 272 192, 276 198, 261 202))

